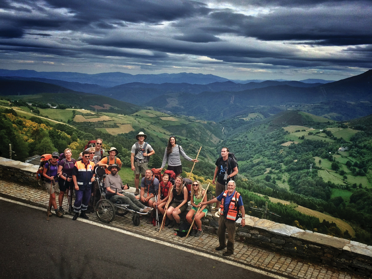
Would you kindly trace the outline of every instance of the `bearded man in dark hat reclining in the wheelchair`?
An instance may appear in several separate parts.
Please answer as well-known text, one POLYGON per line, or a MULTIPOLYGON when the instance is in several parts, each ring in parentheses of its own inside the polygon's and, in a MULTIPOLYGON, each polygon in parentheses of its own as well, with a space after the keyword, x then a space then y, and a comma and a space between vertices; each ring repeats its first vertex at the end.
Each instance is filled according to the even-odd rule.
POLYGON ((110 165, 108 167, 108 170, 111 171, 111 173, 108 174, 105 179, 107 199, 109 199, 114 204, 115 203, 128 204, 130 209, 137 212, 147 213, 152 210, 151 207, 143 205, 133 195, 122 191, 123 189, 126 190, 129 187, 126 184, 123 185, 123 181, 120 175, 118 174, 118 171, 120 171, 120 167, 118 165, 116 164, 110 165))

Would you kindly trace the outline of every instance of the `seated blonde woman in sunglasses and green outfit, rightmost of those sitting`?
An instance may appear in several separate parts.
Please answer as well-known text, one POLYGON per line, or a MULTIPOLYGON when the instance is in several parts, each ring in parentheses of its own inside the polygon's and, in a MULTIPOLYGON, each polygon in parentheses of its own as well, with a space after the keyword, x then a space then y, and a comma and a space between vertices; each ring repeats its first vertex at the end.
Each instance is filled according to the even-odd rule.
POLYGON ((192 225, 192 231, 190 233, 190 236, 196 236, 199 237, 202 235, 202 217, 205 217, 207 215, 208 210, 205 208, 207 205, 204 204, 203 206, 198 206, 199 202, 206 202, 207 201, 207 195, 205 195, 204 200, 203 195, 204 195, 205 190, 202 188, 202 185, 199 180, 195 180, 192 183, 191 187, 191 205, 192 205, 192 210, 190 210, 187 215, 186 215, 186 220, 187 222, 191 225, 192 224, 192 217, 195 214, 195 222, 192 225), (198 209, 200 208, 199 212, 196 214, 198 209))

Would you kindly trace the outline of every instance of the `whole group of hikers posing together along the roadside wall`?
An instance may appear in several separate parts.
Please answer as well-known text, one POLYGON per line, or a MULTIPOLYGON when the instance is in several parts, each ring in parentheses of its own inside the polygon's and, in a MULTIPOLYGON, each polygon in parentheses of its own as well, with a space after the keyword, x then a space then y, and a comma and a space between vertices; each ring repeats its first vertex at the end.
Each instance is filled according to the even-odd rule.
MULTIPOLYGON (((224 256, 233 254, 235 221, 242 214, 241 225, 245 225, 245 210, 242 197, 235 191, 234 178, 238 173, 236 160, 229 156, 229 149, 221 149, 221 157, 216 161, 216 169, 213 176, 213 184, 216 184, 216 197, 207 200, 207 195, 198 180, 191 184, 188 191, 182 173, 180 155, 186 160, 194 163, 197 159, 188 157, 183 148, 177 144, 176 138, 171 136, 168 140, 167 148, 164 152, 163 162, 159 169, 153 169, 158 173, 164 169, 168 162, 168 168, 159 179, 153 174, 153 170, 148 168, 149 157, 155 154, 154 149, 145 140, 147 135, 143 132, 136 135, 137 142, 131 149, 131 169, 135 174, 135 193, 129 193, 129 187, 123 184, 118 174, 121 170, 122 162, 117 157, 119 154, 115 147, 108 151, 109 156, 104 156, 105 150, 102 148, 103 140, 97 139, 94 147, 86 148, 78 160, 71 157, 72 151, 66 148, 63 154, 53 152, 50 160, 44 164, 43 178, 45 187, 50 195, 48 217, 51 216, 50 210, 53 207, 58 217, 63 217, 64 210, 62 202, 65 194, 70 195, 75 189, 75 202, 73 205, 74 217, 88 219, 86 215, 88 207, 92 203, 91 197, 95 195, 97 189, 95 181, 95 168, 103 167, 106 172, 104 187, 106 199, 112 202, 123 202, 134 211, 149 213, 148 223, 155 225, 156 221, 161 221, 165 216, 165 226, 178 230, 181 223, 181 213, 186 212, 188 201, 191 209, 186 214, 187 222, 192 225, 191 236, 199 237, 202 234, 201 219, 207 215, 207 204, 216 203, 211 213, 219 215, 218 238, 219 246, 216 250, 227 248, 224 256), (141 184, 140 184, 141 175, 141 184), (159 181, 160 180, 160 181, 159 181), (55 192, 60 191, 58 205, 55 192), (188 198, 189 197, 189 198, 188 198), (159 218, 155 221, 155 213, 159 218), (226 229, 228 230, 228 241, 226 244, 226 229)), ((93 199, 94 200, 94 199, 93 199)))

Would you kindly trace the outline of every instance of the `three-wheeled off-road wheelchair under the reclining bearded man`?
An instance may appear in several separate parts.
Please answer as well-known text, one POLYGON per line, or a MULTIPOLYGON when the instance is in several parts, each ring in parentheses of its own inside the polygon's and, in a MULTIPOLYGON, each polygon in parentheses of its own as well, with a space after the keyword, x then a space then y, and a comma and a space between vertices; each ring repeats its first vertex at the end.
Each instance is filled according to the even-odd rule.
POLYGON ((95 169, 95 181, 98 183, 101 199, 95 205, 95 214, 102 222, 110 223, 115 215, 125 216, 128 212, 133 213, 132 221, 135 226, 140 225, 140 215, 147 215, 148 212, 137 212, 129 208, 128 204, 123 204, 121 201, 111 202, 106 197, 104 179, 106 177, 105 168, 99 166, 95 169))

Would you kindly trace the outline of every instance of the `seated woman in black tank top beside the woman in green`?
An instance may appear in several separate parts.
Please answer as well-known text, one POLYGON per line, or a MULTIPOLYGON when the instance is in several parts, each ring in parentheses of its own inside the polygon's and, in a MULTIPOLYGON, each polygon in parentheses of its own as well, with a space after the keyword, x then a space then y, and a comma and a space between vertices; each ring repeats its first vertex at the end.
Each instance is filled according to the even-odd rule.
POLYGON ((171 204, 168 207, 167 216, 171 222, 168 228, 174 227, 174 230, 177 230, 181 222, 179 215, 187 209, 187 187, 181 176, 176 177, 169 199, 171 199, 171 204))

